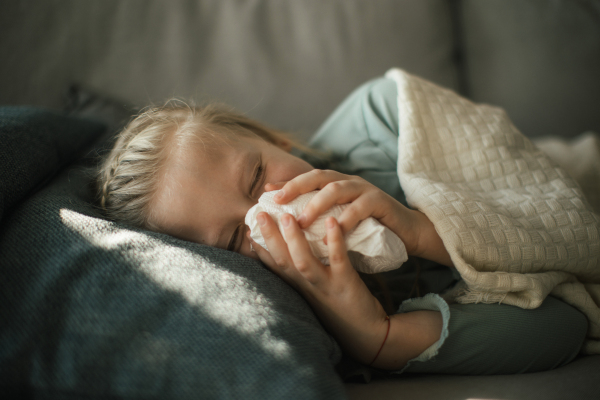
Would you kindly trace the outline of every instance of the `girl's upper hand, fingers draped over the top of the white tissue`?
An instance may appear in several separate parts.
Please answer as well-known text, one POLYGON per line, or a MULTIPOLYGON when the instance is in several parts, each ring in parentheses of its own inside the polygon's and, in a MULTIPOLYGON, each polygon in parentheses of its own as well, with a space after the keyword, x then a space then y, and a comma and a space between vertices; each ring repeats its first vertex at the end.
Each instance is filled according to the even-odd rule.
POLYGON ((332 206, 350 204, 338 219, 342 233, 354 229, 363 219, 373 217, 398 235, 409 255, 453 265, 435 227, 425 214, 405 207, 358 176, 315 169, 285 183, 267 184, 265 189, 281 189, 274 198, 279 204, 285 204, 301 194, 320 190, 298 216, 298 224, 302 229, 310 226, 332 206))

